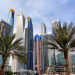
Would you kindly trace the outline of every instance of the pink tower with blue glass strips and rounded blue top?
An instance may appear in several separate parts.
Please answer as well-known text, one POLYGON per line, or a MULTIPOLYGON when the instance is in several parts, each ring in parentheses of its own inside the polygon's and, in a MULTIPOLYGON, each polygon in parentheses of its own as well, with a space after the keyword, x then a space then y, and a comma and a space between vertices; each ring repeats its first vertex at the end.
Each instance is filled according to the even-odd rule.
POLYGON ((41 37, 36 35, 34 37, 34 55, 33 55, 33 70, 36 70, 36 73, 41 73, 42 63, 41 63, 41 37))

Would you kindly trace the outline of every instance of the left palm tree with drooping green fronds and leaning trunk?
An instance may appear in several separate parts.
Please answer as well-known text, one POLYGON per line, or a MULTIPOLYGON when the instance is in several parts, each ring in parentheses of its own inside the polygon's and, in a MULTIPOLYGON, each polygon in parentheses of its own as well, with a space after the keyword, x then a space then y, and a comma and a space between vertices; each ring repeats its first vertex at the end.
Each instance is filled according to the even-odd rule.
POLYGON ((8 57, 10 57, 10 54, 12 56, 17 56, 23 63, 27 63, 26 48, 20 45, 22 43, 22 38, 15 41, 14 39, 15 34, 13 34, 12 36, 9 36, 7 33, 5 36, 1 34, 0 55, 2 56, 3 63, 1 65, 0 75, 3 75, 6 60, 8 57))

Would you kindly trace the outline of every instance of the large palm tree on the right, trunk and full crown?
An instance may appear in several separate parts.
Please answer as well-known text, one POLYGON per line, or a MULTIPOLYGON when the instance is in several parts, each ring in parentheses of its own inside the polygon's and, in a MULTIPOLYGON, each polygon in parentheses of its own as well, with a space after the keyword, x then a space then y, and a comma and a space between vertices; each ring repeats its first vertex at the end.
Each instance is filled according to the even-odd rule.
POLYGON ((69 25, 64 23, 63 26, 52 27, 53 35, 46 35, 47 41, 43 42, 43 45, 48 45, 48 49, 55 49, 61 51, 64 54, 66 75, 69 74, 68 53, 75 50, 75 26, 71 22, 69 25))

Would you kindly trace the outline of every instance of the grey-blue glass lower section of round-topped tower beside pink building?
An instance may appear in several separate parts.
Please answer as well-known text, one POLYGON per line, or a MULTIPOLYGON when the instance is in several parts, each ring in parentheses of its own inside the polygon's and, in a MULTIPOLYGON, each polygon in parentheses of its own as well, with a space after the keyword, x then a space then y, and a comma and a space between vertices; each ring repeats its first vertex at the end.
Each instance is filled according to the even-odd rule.
MULTIPOLYGON (((43 43, 46 38, 44 35, 41 35, 41 42, 43 43)), ((47 45, 41 44, 41 62, 42 62, 42 70, 46 71, 46 68, 49 67, 49 58, 48 58, 48 49, 46 48, 47 45)))

